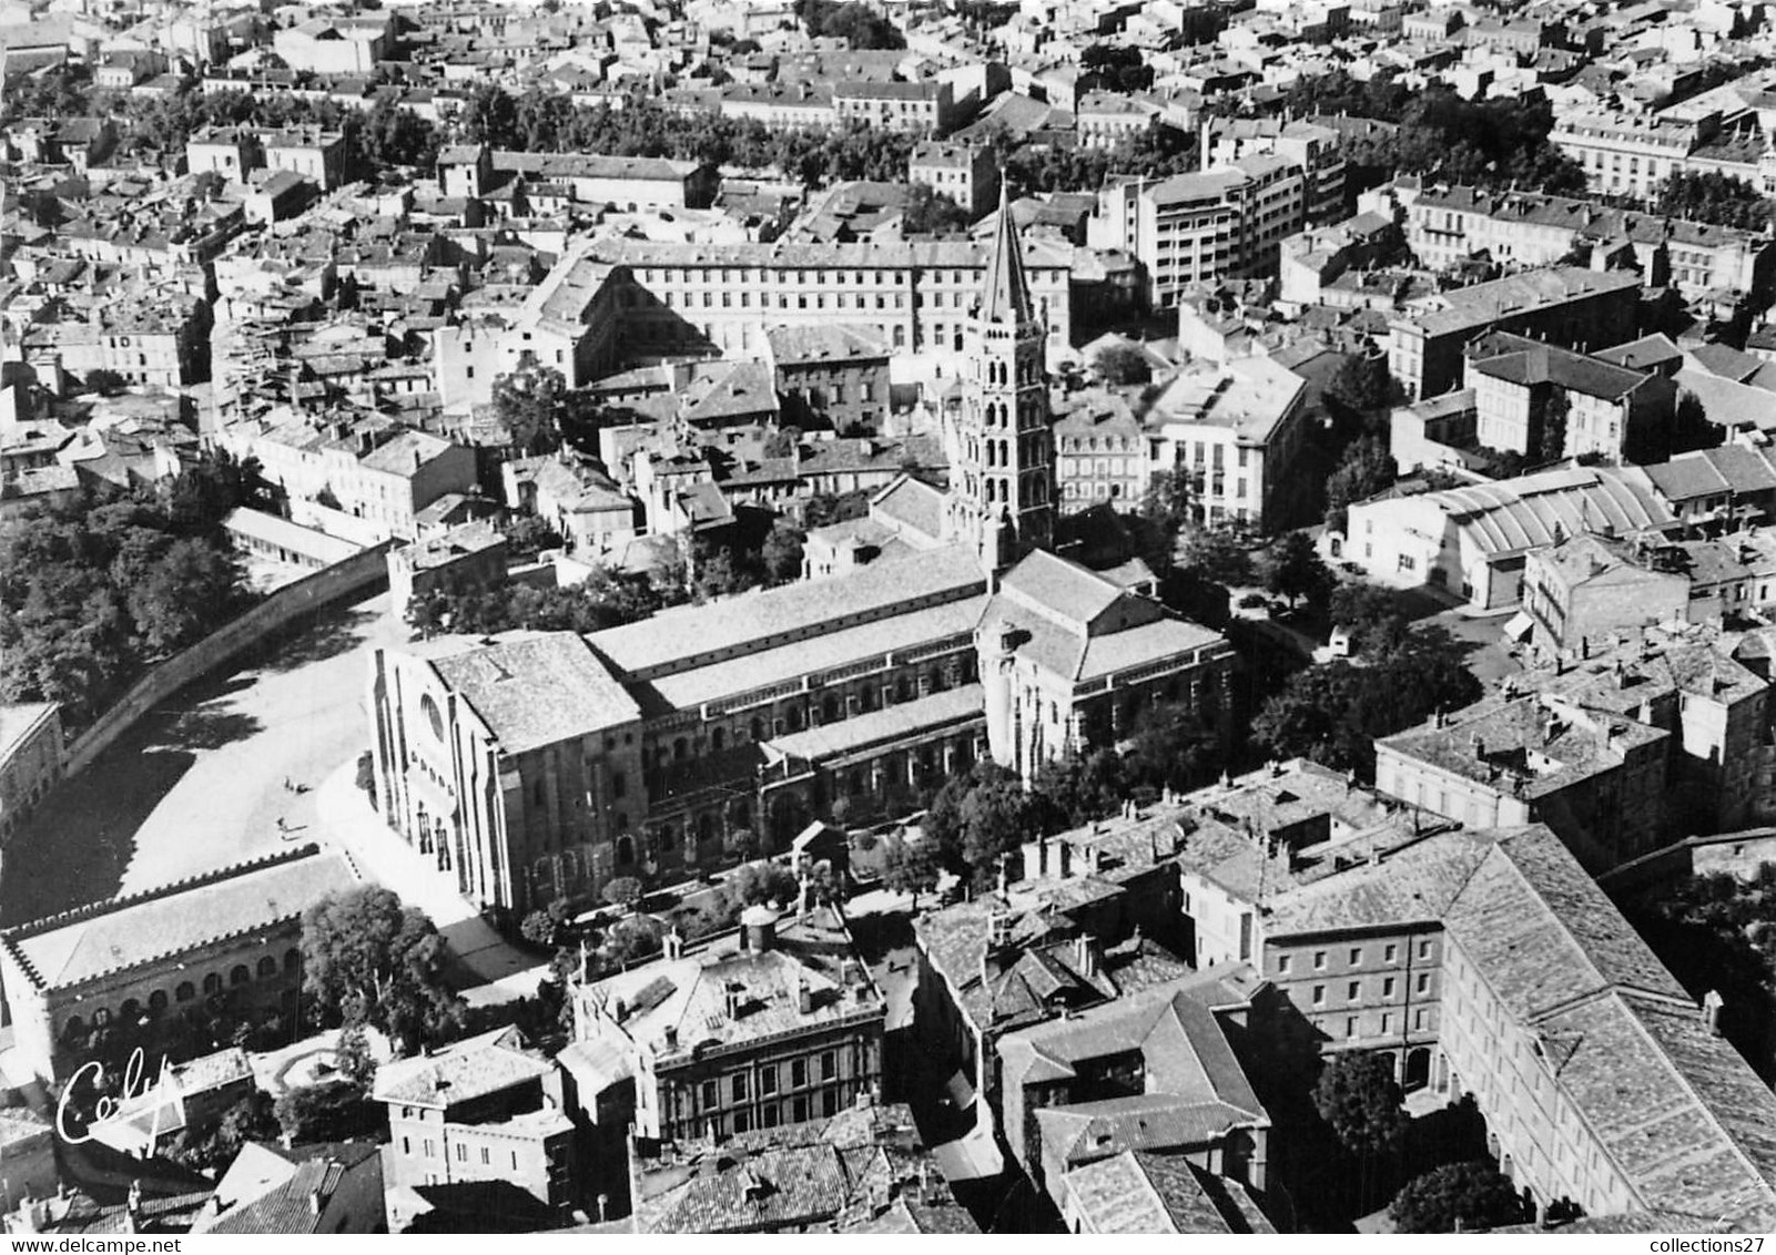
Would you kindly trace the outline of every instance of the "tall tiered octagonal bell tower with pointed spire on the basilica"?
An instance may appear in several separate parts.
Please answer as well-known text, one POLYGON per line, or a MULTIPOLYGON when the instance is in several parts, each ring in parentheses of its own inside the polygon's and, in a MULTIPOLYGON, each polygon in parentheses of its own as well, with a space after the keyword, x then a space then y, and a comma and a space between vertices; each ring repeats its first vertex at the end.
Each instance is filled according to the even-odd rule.
POLYGON ((947 424, 948 533, 1000 572, 1055 543, 1055 431, 1048 332, 1037 321, 1023 247, 1000 179, 998 227, 971 314, 961 414, 947 424))

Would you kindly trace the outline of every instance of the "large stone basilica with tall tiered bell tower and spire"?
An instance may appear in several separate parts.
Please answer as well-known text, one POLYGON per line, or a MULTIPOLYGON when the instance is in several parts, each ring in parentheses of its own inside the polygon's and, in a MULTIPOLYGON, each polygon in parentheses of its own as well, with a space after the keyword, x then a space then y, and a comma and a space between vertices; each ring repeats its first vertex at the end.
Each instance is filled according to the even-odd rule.
POLYGON ((1012 215, 970 316, 945 488, 902 476, 808 536, 808 579, 577 635, 378 650, 377 799, 508 920, 785 849, 810 820, 908 813, 982 756, 1027 781, 1151 701, 1225 731, 1227 641, 1138 559, 1057 541, 1055 438, 1012 215))

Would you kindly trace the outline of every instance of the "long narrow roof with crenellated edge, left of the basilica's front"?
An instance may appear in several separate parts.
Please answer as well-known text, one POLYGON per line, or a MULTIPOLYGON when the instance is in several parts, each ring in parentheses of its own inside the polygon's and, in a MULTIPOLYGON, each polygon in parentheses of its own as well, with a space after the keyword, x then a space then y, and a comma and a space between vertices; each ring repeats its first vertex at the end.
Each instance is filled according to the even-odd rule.
POLYGON ((309 845, 18 925, 0 932, 0 944, 34 987, 71 989, 297 920, 357 882, 343 854, 309 845))

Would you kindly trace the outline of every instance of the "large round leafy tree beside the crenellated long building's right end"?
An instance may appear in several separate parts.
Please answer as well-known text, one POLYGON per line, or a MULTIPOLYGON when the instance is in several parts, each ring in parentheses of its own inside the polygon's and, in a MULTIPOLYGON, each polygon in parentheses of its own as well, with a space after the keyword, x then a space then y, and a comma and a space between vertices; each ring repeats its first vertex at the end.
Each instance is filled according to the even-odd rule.
POLYGON ((371 1024, 401 1053, 449 1040, 464 1017, 444 983, 444 939, 380 886, 332 893, 302 914, 302 989, 321 1014, 371 1024))

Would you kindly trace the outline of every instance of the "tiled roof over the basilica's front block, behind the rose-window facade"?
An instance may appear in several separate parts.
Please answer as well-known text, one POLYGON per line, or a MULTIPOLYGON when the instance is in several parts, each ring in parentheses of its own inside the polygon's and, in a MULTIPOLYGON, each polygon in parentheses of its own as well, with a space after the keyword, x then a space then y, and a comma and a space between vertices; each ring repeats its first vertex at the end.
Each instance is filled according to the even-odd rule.
POLYGON ((508 754, 641 717, 634 698, 574 632, 508 634, 483 646, 451 637, 433 650, 428 657, 439 678, 508 754))

